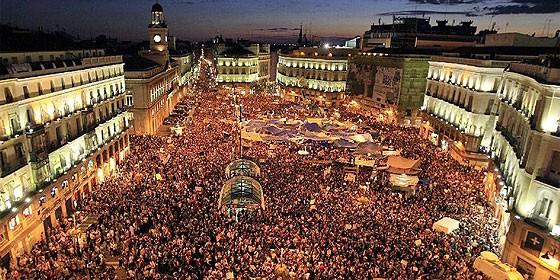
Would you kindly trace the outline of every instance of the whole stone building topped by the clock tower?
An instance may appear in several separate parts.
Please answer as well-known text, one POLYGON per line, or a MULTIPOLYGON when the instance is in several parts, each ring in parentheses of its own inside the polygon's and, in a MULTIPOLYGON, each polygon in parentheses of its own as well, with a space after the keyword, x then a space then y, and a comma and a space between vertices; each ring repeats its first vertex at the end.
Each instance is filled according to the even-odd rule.
POLYGON ((141 56, 125 58, 125 78, 128 97, 132 102, 136 134, 153 135, 158 132, 163 120, 169 116, 175 105, 186 93, 192 57, 169 54, 168 28, 163 16, 163 8, 156 3, 151 10, 148 26, 150 50, 141 56))

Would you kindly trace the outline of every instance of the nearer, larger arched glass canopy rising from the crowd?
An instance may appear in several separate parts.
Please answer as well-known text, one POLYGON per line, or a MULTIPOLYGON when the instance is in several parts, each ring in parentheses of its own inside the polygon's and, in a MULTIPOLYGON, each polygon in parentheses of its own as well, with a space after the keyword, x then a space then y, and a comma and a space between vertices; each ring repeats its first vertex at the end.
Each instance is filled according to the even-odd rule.
POLYGON ((264 195, 261 184, 247 176, 235 176, 224 183, 220 192, 218 208, 261 207, 264 209, 264 195))

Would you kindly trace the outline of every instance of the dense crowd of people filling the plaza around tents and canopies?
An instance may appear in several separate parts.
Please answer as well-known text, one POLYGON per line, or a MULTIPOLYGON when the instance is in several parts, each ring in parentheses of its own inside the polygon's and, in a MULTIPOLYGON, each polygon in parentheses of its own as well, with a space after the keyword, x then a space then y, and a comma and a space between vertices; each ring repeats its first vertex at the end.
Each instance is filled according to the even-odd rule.
MULTIPOLYGON (((307 143, 310 154, 302 156, 296 143, 271 150, 254 142, 244 157, 261 168, 266 208, 219 211, 224 169, 239 157, 237 126, 229 91, 202 84, 182 136, 131 137, 118 171, 80 202, 77 220, 99 216, 85 243, 63 222, 14 262, 7 279, 484 279, 472 263, 481 251, 496 252, 497 240, 483 172, 458 164, 416 128, 344 108, 341 119, 420 159, 427 183, 414 196, 393 192, 384 171, 372 178, 371 168, 361 168, 347 182, 341 164, 309 163, 350 157, 348 150, 307 143), (460 229, 432 230, 442 217, 459 220, 460 229), (109 258, 118 264, 107 265, 109 258)), ((247 94, 241 102, 245 119, 324 114, 270 95, 247 94)))

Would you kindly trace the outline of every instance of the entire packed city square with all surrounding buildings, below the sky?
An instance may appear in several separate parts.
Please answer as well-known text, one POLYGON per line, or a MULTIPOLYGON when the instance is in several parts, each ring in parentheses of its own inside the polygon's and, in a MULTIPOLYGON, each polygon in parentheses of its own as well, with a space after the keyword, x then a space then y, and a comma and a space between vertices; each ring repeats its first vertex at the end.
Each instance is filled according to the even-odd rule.
POLYGON ((0 26, 0 279, 560 279, 560 31, 187 43, 163 4, 138 46, 0 26))

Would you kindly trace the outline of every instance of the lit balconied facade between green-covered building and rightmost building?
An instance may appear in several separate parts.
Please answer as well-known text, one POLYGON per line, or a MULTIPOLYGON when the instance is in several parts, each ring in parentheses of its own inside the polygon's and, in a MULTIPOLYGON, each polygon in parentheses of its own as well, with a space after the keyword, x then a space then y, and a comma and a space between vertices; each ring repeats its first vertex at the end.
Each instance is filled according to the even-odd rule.
POLYGON ((486 166, 506 61, 434 57, 420 133, 463 163, 486 166))

